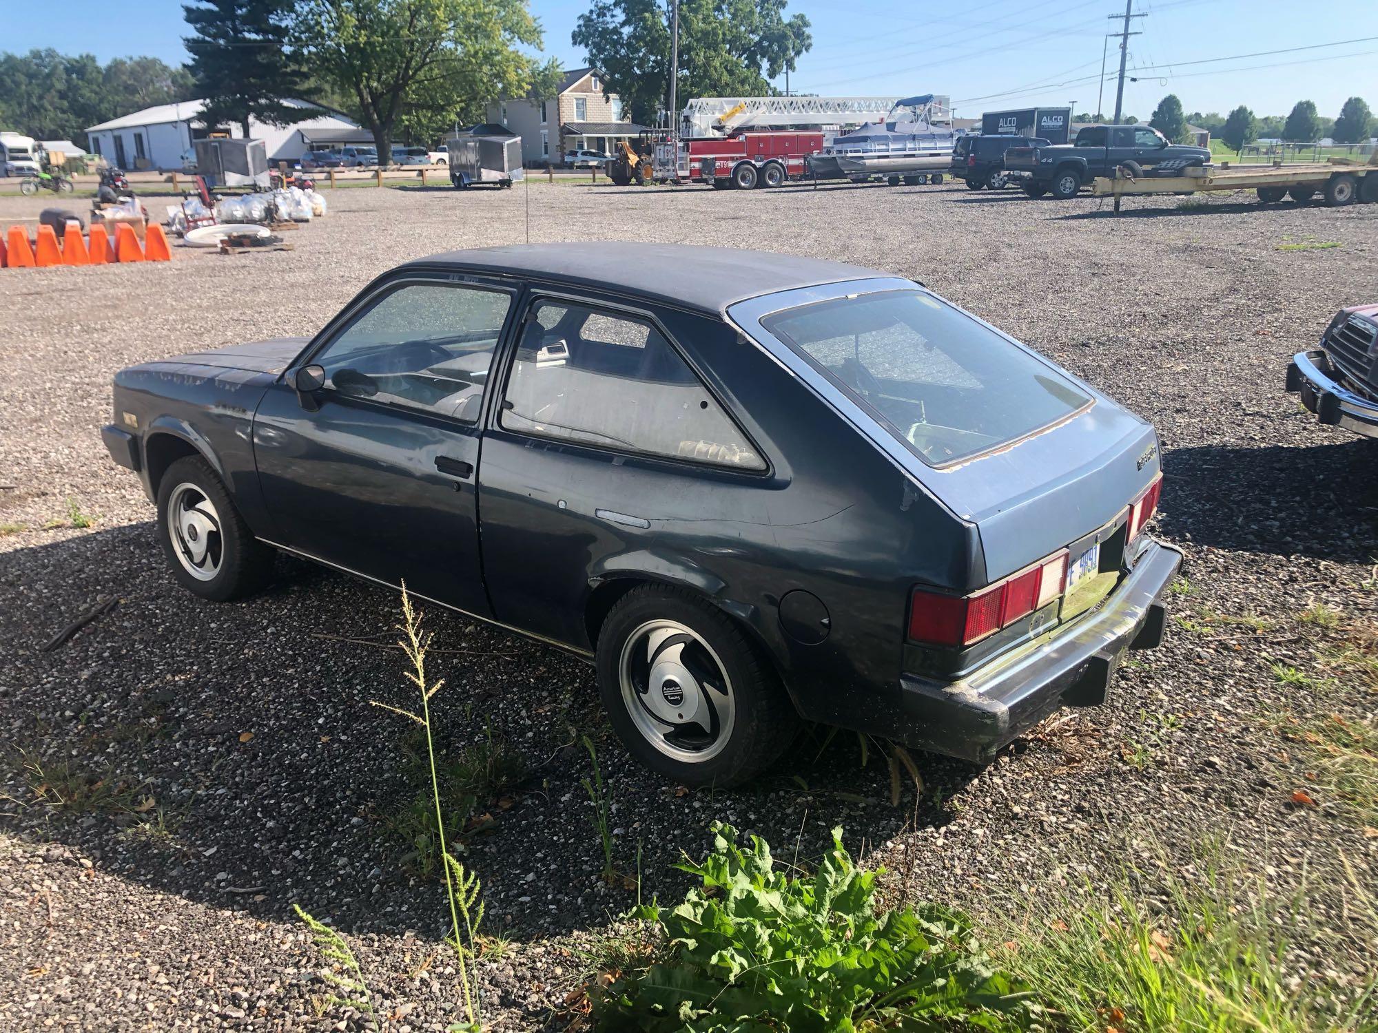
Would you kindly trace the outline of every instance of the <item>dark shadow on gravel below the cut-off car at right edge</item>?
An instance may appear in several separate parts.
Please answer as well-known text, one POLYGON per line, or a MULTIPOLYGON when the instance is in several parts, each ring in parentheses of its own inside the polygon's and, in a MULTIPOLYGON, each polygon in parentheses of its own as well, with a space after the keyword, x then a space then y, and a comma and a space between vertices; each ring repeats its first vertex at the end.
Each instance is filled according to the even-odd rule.
POLYGON ((1378 562, 1378 442, 1239 448, 1163 456, 1162 522, 1202 545, 1378 562))

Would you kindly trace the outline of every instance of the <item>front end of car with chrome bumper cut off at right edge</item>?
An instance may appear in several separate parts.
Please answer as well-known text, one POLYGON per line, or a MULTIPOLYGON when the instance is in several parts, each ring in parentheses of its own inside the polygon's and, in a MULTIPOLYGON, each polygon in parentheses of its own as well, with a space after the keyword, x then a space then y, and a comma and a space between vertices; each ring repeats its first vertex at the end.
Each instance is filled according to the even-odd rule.
POLYGON ((1378 304, 1335 313, 1320 347, 1287 364, 1287 390, 1322 423, 1378 438, 1378 304))

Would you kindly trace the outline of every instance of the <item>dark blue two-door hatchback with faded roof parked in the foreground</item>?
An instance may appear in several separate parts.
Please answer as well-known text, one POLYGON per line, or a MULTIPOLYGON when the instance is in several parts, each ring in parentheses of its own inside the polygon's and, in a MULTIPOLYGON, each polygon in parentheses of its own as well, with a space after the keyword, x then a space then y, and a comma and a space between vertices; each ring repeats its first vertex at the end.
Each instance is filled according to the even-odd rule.
POLYGON ((681 782, 751 778, 798 716, 988 759, 1105 698, 1181 563, 1152 426, 921 284, 788 255, 435 255, 311 339, 121 371, 114 417, 193 594, 277 550, 405 583, 593 662, 681 782))

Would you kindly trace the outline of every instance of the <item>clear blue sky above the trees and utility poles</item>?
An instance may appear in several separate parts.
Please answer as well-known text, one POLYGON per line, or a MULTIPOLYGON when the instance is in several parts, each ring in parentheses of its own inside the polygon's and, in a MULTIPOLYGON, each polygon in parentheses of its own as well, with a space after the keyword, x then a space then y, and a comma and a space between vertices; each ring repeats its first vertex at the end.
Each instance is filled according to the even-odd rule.
MULTIPOLYGON (((61 17, 45 4, 8 0, 0 48, 55 47, 98 58, 150 54, 185 61, 181 0, 63 0, 61 17)), ((546 52, 566 65, 583 54, 569 34, 587 10, 580 0, 532 0, 546 29, 546 52)), ((825 95, 937 92, 959 116, 1036 103, 1076 102, 1094 110, 1105 33, 1122 0, 974 0, 965 7, 914 0, 791 0, 813 22, 813 50, 790 77, 791 90, 825 95), (927 14, 932 11, 932 14, 927 14)), ((1188 112, 1228 112, 1247 103, 1255 114, 1286 114, 1299 99, 1334 117, 1346 96, 1378 109, 1378 3, 1372 0, 1135 0, 1141 36, 1129 63, 1124 110, 1146 118, 1167 92, 1188 112), (1371 37, 1371 39, 1364 39, 1371 37), (1320 47, 1352 40, 1345 45, 1320 47), (1262 54, 1315 47, 1290 54, 1262 54), (1254 55, 1258 56, 1237 56, 1254 55), (1215 58, 1235 58, 1213 61, 1215 58), (1196 63, 1192 63, 1196 62, 1196 63)), ((1115 43, 1107 73, 1116 66, 1115 43)), ((784 79, 779 80, 784 87, 784 79)), ((1113 109, 1113 80, 1104 107, 1113 109)))

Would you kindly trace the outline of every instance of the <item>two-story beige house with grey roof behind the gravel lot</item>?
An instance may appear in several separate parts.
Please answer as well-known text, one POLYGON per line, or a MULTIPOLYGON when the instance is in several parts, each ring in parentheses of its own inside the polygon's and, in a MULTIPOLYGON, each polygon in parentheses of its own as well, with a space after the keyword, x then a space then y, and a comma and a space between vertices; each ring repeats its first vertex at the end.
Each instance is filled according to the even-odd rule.
POLYGON ((644 127, 623 116, 621 99, 604 96, 604 83, 591 67, 565 72, 554 96, 493 101, 486 120, 521 136, 522 164, 558 165, 566 152, 610 152, 619 139, 639 134, 644 127))

